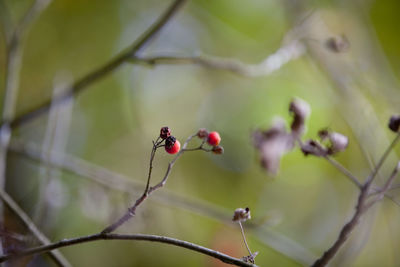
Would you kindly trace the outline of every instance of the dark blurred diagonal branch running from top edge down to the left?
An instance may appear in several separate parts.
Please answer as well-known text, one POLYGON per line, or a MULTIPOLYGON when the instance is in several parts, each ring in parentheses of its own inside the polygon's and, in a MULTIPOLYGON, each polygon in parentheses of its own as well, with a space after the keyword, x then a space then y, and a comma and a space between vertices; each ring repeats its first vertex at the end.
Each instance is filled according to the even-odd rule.
POLYGON ((186 0, 175 0, 172 5, 168 7, 168 9, 158 18, 158 20, 152 24, 147 31, 145 31, 134 43, 131 47, 125 49, 125 51, 121 52, 119 55, 111 59, 105 65, 95 69, 90 72, 86 76, 82 77, 71 86, 67 87, 64 92, 60 93, 53 99, 48 99, 44 103, 40 104, 37 107, 32 108, 28 112, 18 116, 14 120, 11 121, 11 127, 15 128, 21 126, 22 124, 27 123, 33 118, 38 117, 39 115, 46 113, 51 103, 61 104, 64 101, 67 101, 72 95, 79 94, 84 89, 86 89, 89 85, 97 82, 101 78, 104 78, 106 75, 110 74, 112 71, 117 69, 127 60, 129 60, 132 56, 135 56, 137 52, 139 52, 142 48, 144 48, 159 32, 160 30, 168 23, 168 21, 176 14, 180 7, 186 3, 186 0))

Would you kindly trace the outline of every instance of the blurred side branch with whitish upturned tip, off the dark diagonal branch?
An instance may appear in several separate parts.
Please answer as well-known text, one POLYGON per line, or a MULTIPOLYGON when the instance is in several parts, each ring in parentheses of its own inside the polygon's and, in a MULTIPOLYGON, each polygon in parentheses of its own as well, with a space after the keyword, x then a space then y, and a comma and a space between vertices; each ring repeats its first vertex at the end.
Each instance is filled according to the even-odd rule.
POLYGON ((266 57, 259 64, 246 64, 233 58, 221 58, 209 55, 179 56, 179 55, 155 55, 134 56, 132 63, 145 63, 151 66, 164 64, 197 64, 205 68, 230 71, 239 75, 257 77, 269 75, 280 69, 284 64, 296 59, 305 53, 304 45, 294 40, 282 46, 274 54, 266 57))

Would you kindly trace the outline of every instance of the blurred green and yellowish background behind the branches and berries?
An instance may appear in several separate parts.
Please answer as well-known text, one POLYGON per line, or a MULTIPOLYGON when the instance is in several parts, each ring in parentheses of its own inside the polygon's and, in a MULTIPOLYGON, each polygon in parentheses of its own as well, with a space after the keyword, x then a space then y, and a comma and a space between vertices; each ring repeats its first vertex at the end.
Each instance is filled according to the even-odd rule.
MULTIPOLYGON (((24 39, 17 114, 109 61, 170 2, 53 0, 24 39)), ((14 22, 31 4, 4 1, 14 22)), ((6 190, 51 240, 95 233, 140 195, 160 127, 168 125, 181 142, 199 128, 216 130, 225 153, 183 155, 165 188, 118 231, 166 235, 242 257, 246 249, 231 216, 248 206, 252 220, 244 227, 251 249, 259 251, 257 264, 309 265, 352 215, 358 190, 328 162, 306 158, 299 149, 283 158, 276 176, 269 175, 259 164, 251 132, 266 129, 276 116, 289 119, 288 104, 300 97, 312 108, 306 137, 314 138, 323 127, 347 135, 349 148, 336 159, 364 179, 394 137, 386 125, 400 106, 399 10, 396 0, 189 1, 141 55, 208 55, 248 64, 269 58, 272 71, 252 77, 196 64, 127 63, 13 131, 6 190), (344 46, 332 48, 332 40, 344 46), (292 44, 294 52, 288 50, 292 44), (91 172, 71 171, 68 166, 81 166, 78 160, 92 164, 91 172)), ((398 160, 396 152, 399 148, 380 181, 398 160)), ((157 153, 154 182, 171 159, 157 153)), ((398 193, 391 192, 395 198, 398 193)), ((383 200, 363 217, 332 266, 399 266, 399 219, 400 207, 383 200)), ((30 236, 8 210, 6 225, 30 236)), ((31 245, 15 244, 16 249, 31 245)), ((145 242, 100 241, 61 251, 75 266, 227 266, 145 242)), ((29 261, 29 266, 53 266, 46 256, 29 261)))

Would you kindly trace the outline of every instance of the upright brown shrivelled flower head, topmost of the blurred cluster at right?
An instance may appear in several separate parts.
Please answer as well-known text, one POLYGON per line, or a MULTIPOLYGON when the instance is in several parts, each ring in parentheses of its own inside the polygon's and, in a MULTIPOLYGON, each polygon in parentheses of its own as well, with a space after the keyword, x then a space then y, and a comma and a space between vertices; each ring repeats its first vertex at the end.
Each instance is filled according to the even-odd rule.
POLYGON ((295 137, 300 137, 305 130, 305 121, 311 113, 310 105, 304 100, 296 98, 290 102, 289 112, 293 114, 292 133, 295 137))

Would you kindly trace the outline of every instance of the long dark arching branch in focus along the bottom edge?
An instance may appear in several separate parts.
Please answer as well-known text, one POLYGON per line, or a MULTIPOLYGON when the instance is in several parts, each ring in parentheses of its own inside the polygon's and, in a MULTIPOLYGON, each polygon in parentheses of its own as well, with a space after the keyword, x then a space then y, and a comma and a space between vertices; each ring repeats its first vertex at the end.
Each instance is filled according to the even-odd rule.
MULTIPOLYGON (((225 262, 227 264, 231 264, 231 265, 245 266, 245 267, 256 267, 257 266, 257 265, 251 264, 251 263, 244 262, 240 259, 233 258, 224 253, 221 253, 221 252, 218 252, 218 251, 215 251, 215 250, 212 250, 212 249, 200 246, 200 245, 196 245, 196 244, 193 244, 193 243, 190 243, 187 241, 182 241, 179 239, 171 238, 171 237, 157 236, 157 235, 144 235, 144 234, 121 235, 121 234, 104 234, 104 233, 88 235, 88 236, 83 236, 83 237, 77 237, 77 238, 72 238, 72 239, 63 239, 59 242, 52 243, 49 245, 19 251, 15 254, 3 255, 3 256, 0 256, 0 262, 4 262, 9 259, 20 258, 20 257, 27 256, 27 255, 44 253, 44 252, 51 251, 53 249, 57 249, 57 248, 61 248, 61 247, 73 246, 73 245, 87 243, 87 242, 93 242, 93 241, 97 241, 97 240, 137 240, 137 241, 151 241, 151 242, 165 243, 165 244, 183 247, 183 248, 186 248, 189 250, 193 250, 193 251, 205 254, 205 255, 219 259, 220 261, 225 262)), ((179 259, 178 259, 178 261, 179 261, 179 259)))

